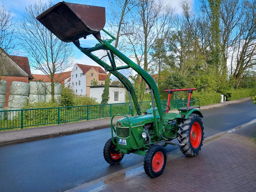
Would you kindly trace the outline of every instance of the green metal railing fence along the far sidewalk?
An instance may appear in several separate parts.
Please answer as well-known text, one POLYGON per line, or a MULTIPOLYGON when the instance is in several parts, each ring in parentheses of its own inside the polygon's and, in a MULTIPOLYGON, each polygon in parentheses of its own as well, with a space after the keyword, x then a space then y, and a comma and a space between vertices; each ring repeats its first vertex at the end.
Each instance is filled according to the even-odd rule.
MULTIPOLYGON (((171 110, 178 109, 179 103, 186 102, 187 99, 171 100, 170 108, 171 110)), ((167 105, 167 101, 161 101, 161 103, 167 105)), ((151 101, 139 102, 141 111, 143 112, 151 108, 151 104, 151 101)), ((166 107, 163 106, 163 109, 165 108, 166 107)), ((23 129, 23 127, 35 127, 41 125, 112 117, 113 115, 118 114, 131 114, 129 103, 5 110, 0 111, 0 131, 6 129, 23 129)))

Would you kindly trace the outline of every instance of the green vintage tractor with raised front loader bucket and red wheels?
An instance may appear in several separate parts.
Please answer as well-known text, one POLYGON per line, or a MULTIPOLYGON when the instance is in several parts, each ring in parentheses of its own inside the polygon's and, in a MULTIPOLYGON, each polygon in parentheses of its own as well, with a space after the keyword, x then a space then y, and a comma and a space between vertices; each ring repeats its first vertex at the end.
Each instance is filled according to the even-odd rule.
POLYGON ((125 154, 143 155, 145 157, 145 172, 149 177, 154 178, 161 175, 165 168, 166 152, 164 147, 167 144, 178 145, 182 153, 190 157, 198 154, 203 142, 203 123, 201 120, 203 115, 200 112, 199 101, 190 101, 191 93, 195 89, 185 89, 189 92, 188 102, 179 103, 179 106, 183 106, 183 108, 178 106, 179 113, 169 113, 172 91, 182 90, 166 90, 168 103, 167 105, 161 104, 154 79, 111 45, 115 37, 103 29, 106 22, 105 7, 62 1, 40 14, 37 19, 62 41, 73 42, 82 53, 102 66, 105 71, 117 77, 128 91, 131 117, 122 115, 123 118, 117 121, 116 127, 113 125, 114 116, 112 117, 112 137, 106 142, 103 149, 104 158, 109 164, 119 163, 125 154), (103 40, 100 31, 109 35, 110 39, 103 40), (81 47, 79 39, 86 38, 87 35, 91 34, 99 43, 94 47, 81 47), (111 65, 92 53, 97 50, 107 52, 106 56, 111 65), (115 57, 118 57, 126 65, 116 66, 115 57), (128 68, 141 75, 150 87, 152 108, 145 111, 144 114, 141 113, 133 84, 119 72, 121 69, 128 68), (198 103, 198 106, 190 106, 191 103, 198 103), (178 138, 179 143, 172 142, 175 138, 178 138))

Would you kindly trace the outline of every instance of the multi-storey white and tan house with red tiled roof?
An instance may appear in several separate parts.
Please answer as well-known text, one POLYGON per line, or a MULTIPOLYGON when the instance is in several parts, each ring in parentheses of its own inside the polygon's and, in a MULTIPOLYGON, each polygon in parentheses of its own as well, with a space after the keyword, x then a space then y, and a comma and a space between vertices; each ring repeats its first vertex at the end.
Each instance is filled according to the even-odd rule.
POLYGON ((104 85, 107 77, 107 73, 98 66, 75 64, 71 71, 70 86, 74 90, 75 94, 90 96, 90 85, 92 85, 93 79, 97 80, 99 85, 104 85))

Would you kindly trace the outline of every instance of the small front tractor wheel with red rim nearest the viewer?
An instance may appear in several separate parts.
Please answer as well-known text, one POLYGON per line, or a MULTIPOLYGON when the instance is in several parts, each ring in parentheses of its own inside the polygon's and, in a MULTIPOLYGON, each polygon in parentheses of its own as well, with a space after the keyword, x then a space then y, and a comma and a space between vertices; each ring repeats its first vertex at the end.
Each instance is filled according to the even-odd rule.
POLYGON ((144 170, 146 174, 151 178, 158 177, 163 173, 163 170, 165 169, 165 164, 165 149, 160 145, 153 145, 152 147, 150 147, 144 158, 144 170))

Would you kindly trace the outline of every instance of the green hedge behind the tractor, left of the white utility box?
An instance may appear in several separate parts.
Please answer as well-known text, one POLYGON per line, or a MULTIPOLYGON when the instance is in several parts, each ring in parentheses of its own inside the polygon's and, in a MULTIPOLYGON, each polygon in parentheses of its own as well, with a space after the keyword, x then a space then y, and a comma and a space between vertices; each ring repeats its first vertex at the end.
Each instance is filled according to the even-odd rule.
POLYGON ((207 91, 193 91, 191 101, 198 99, 200 100, 201 106, 211 105, 221 101, 221 94, 207 91))

